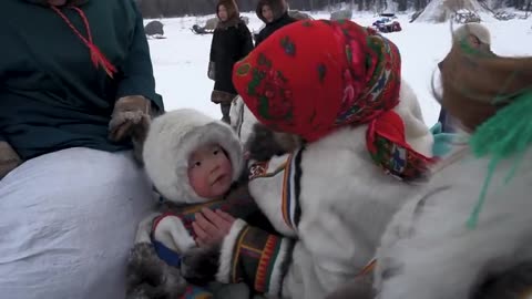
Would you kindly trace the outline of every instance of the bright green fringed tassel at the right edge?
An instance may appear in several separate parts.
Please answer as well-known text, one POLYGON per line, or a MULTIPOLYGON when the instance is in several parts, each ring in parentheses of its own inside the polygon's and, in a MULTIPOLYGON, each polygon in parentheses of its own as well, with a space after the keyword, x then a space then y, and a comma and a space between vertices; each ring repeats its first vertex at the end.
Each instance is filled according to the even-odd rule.
POLYGON ((511 104, 480 125, 470 138, 470 147, 477 158, 491 156, 479 200, 468 220, 470 228, 477 226, 488 187, 499 162, 515 156, 513 167, 504 179, 508 184, 532 144, 532 91, 518 95, 511 101, 511 104))

